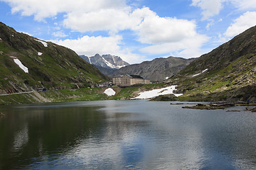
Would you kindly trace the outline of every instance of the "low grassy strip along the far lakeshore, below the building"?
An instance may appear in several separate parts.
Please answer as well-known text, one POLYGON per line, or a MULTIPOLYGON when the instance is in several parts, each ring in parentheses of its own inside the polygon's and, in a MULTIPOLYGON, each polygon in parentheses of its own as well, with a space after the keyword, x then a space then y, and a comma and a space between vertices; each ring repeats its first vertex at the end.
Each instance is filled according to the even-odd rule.
MULTIPOLYGON (((51 102, 65 102, 65 101, 102 101, 102 100, 121 100, 129 99, 134 96, 134 91, 147 91, 151 89, 158 89, 165 84, 145 84, 143 86, 133 87, 111 87, 116 91, 116 95, 107 96, 104 91, 105 88, 81 88, 81 89, 60 89, 48 90, 38 92, 42 98, 51 102)), ((35 94, 15 94, 10 96, 0 96, 0 105, 18 104, 18 103, 41 103, 44 102, 42 98, 38 98, 35 94)))

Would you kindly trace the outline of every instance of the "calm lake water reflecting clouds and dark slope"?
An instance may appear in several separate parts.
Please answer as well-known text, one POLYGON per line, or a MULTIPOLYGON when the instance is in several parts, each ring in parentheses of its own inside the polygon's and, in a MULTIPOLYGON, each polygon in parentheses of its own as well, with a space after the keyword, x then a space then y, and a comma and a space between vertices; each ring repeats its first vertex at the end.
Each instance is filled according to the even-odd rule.
POLYGON ((256 169, 256 113, 170 103, 1 106, 0 169, 256 169))

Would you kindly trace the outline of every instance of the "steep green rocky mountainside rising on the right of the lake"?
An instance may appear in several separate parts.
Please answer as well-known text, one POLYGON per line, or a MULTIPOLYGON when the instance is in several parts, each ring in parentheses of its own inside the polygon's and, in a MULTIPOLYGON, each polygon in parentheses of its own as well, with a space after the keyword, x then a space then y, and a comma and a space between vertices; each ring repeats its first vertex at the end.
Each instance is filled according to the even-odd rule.
POLYGON ((198 101, 256 101, 256 26, 191 62, 167 82, 183 98, 198 101))

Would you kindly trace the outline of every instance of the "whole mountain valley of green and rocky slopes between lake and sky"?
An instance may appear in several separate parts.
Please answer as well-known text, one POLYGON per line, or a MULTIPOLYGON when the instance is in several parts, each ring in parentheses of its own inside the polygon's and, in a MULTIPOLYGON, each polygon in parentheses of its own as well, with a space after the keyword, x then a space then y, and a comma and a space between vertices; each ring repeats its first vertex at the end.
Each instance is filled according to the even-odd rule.
POLYGON ((4 23, 0 24, 0 38, 1 105, 127 100, 171 85, 177 85, 174 93, 183 94, 176 98, 180 101, 256 102, 256 27, 198 58, 157 58, 141 64, 129 64, 114 55, 78 56, 4 23), (123 74, 137 74, 158 83, 113 86, 113 96, 104 94, 107 87, 97 87, 123 74), (42 87, 47 90, 37 91, 42 87))

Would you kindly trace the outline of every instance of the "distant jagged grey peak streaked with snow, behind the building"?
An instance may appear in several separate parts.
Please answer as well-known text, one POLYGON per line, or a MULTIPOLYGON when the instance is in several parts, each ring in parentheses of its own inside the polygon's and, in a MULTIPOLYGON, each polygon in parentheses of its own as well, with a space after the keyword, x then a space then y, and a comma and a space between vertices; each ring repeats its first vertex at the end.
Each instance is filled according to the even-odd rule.
POLYGON ((80 55, 86 62, 94 65, 103 74, 113 74, 117 69, 129 65, 128 62, 124 62, 120 57, 115 55, 102 55, 96 54, 92 57, 80 55))

